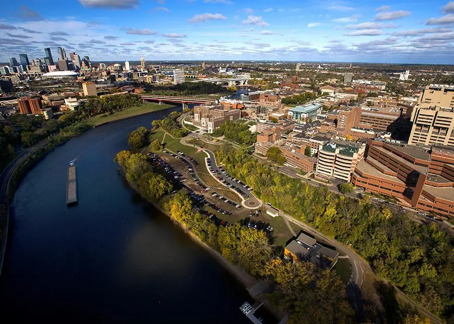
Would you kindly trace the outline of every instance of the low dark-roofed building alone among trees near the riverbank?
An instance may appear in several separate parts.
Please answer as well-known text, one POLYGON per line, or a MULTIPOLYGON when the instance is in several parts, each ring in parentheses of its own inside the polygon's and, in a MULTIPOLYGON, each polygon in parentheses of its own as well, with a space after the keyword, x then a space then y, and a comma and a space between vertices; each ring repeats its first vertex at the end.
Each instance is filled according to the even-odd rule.
POLYGON ((302 232, 285 247, 284 255, 293 260, 309 262, 322 270, 331 269, 337 262, 339 252, 321 245, 313 237, 302 232))

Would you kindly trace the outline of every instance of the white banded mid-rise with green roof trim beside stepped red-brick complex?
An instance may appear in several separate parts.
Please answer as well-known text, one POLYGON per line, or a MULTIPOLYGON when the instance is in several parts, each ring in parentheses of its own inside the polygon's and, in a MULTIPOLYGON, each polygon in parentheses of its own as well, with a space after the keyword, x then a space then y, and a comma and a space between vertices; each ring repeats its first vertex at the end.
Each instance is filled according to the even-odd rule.
POLYGON ((345 141, 320 144, 316 172, 350 181, 355 166, 364 157, 366 145, 345 141))

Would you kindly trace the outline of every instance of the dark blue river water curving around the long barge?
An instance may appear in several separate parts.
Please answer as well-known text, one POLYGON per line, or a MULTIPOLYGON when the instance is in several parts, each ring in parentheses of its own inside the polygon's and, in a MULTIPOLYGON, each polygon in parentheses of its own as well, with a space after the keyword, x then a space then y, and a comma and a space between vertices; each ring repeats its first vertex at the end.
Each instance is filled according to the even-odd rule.
POLYGON ((246 290, 136 195, 113 162, 128 149, 129 132, 169 112, 91 129, 25 175, 11 206, 0 278, 3 319, 250 323, 239 310, 251 301, 246 290), (79 204, 67 208, 66 172, 74 158, 79 204))

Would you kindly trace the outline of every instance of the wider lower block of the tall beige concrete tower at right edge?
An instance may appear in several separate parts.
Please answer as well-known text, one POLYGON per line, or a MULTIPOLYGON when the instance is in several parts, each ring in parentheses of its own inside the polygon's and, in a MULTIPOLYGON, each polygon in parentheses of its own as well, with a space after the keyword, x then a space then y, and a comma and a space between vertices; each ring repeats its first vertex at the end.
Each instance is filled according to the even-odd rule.
POLYGON ((418 104, 412 121, 409 144, 454 146, 454 107, 418 104))

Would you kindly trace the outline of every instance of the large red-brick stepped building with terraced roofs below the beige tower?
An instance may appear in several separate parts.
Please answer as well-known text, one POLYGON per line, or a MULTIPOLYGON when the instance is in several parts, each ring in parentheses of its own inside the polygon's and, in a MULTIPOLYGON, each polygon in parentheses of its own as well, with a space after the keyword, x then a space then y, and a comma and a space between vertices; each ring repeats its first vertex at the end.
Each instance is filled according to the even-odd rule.
POLYGON ((426 212, 454 216, 453 148, 368 140, 367 149, 366 159, 356 165, 352 175, 354 185, 426 212))

